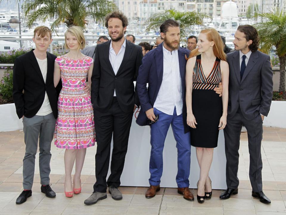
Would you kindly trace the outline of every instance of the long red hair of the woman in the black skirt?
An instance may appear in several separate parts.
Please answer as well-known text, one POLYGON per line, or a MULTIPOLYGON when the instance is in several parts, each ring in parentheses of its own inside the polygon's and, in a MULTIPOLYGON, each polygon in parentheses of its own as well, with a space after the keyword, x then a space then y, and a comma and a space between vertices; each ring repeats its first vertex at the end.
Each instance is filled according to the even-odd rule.
MULTIPOLYGON (((200 33, 206 34, 207 40, 214 41, 214 46, 212 50, 214 51, 215 57, 217 57, 220 60, 226 61, 226 54, 223 51, 224 48, 223 41, 221 40, 220 34, 217 32, 217 30, 213 28, 206 28, 201 30, 200 33)), ((196 48, 193 51, 191 51, 187 59, 195 57, 199 54, 201 53, 198 51, 198 48, 196 48)))

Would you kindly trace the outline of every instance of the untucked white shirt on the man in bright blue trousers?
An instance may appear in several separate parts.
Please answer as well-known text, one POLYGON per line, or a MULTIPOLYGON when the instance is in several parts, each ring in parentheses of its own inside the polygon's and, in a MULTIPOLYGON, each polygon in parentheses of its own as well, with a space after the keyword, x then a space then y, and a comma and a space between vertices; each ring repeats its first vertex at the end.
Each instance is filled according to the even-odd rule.
POLYGON ((182 82, 179 68, 178 50, 168 51, 163 44, 163 80, 154 107, 159 111, 173 115, 183 112, 182 82))

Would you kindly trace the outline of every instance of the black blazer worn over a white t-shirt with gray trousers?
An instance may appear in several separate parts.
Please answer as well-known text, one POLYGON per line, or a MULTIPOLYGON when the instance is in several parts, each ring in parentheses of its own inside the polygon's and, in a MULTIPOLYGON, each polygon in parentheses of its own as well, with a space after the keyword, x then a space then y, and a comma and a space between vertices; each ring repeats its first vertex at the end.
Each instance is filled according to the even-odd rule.
MULTIPOLYGON (((47 52, 46 83, 33 50, 15 59, 13 70, 13 99, 19 119, 35 116, 41 108, 47 92, 54 117, 57 118, 58 93, 54 87, 54 63, 56 56, 47 52), (24 90, 24 93, 23 93, 24 90)), ((61 89, 61 82, 58 85, 61 89)))

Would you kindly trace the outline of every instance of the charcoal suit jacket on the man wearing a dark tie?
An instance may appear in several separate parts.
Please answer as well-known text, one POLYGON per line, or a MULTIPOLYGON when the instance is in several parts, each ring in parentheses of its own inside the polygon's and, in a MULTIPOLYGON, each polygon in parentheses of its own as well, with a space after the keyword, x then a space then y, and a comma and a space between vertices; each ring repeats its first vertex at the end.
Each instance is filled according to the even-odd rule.
POLYGON ((239 51, 227 54, 229 64, 228 118, 234 116, 240 106, 245 119, 257 114, 268 115, 273 94, 270 56, 260 51, 251 53, 243 77, 240 80, 239 51))

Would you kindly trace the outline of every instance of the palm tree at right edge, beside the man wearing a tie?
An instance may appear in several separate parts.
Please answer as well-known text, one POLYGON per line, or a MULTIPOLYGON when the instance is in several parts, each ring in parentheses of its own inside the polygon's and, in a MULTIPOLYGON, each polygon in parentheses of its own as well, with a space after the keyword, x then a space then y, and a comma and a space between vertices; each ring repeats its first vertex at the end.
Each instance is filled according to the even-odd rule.
POLYGON ((279 91, 285 92, 285 65, 286 65, 286 13, 278 8, 269 13, 256 15, 263 22, 255 25, 260 37, 261 50, 269 53, 273 46, 280 61, 279 91))

